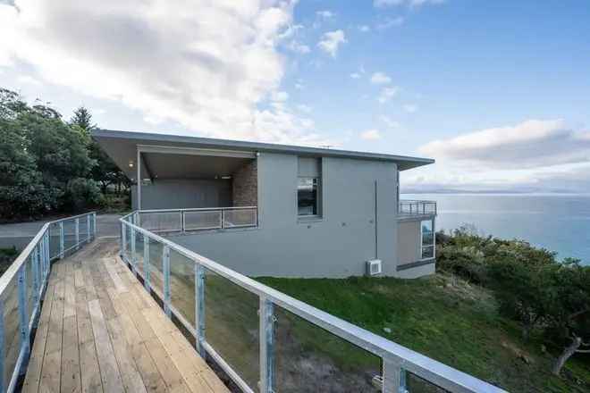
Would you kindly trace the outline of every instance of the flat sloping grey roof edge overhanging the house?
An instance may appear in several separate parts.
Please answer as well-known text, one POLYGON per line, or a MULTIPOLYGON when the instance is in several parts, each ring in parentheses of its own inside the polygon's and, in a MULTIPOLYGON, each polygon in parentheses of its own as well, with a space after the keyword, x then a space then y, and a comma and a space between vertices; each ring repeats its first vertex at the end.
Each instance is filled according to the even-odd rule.
MULTIPOLYGON (((279 145, 273 143, 250 142, 232 139, 187 137, 181 135, 156 134, 138 131, 97 129, 92 131, 92 137, 96 138, 99 145, 105 148, 106 153, 112 157, 115 155, 115 152, 110 150, 112 150, 114 144, 108 142, 116 141, 116 145, 119 148, 126 145, 127 149, 129 149, 131 147, 130 145, 132 145, 133 151, 135 150, 135 146, 138 145, 164 144, 166 146, 177 147, 231 149, 249 152, 284 153, 291 155, 312 155, 390 161, 397 163, 400 171, 406 171, 412 168, 417 168, 418 166, 434 163, 434 160, 431 158, 410 157, 407 155, 385 155, 381 153, 367 153, 333 148, 279 145)), ((115 160, 115 162, 116 161, 117 160, 115 160)))

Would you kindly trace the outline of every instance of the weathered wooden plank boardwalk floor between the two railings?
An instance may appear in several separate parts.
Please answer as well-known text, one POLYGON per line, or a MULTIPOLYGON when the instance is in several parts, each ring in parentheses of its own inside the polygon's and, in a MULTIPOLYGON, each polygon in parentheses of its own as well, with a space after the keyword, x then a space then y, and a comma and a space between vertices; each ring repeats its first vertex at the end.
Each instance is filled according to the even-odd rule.
POLYGON ((53 264, 24 392, 229 392, 100 239, 53 264))

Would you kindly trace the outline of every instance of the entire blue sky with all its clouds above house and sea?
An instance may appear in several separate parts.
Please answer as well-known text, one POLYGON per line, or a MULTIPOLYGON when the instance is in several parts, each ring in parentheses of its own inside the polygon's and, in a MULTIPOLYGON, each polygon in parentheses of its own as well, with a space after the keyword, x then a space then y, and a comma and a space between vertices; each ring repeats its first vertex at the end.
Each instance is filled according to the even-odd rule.
POLYGON ((434 158, 406 192, 590 193, 588 0, 0 0, 0 87, 110 130, 434 158))

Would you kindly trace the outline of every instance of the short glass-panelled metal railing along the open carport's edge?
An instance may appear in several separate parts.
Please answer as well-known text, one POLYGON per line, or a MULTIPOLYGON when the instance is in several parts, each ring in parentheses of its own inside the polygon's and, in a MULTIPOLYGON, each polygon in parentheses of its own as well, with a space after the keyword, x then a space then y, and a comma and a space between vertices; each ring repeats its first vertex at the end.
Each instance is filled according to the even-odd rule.
POLYGON ((141 227, 153 232, 224 230, 258 225, 257 206, 141 210, 141 227))

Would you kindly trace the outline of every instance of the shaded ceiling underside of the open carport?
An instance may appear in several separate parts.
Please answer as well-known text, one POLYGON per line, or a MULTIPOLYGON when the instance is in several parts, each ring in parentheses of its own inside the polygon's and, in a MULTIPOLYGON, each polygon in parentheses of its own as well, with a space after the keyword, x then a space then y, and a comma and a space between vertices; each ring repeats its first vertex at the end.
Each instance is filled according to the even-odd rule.
MULTIPOLYGON (((166 153, 142 153, 141 157, 155 179, 214 179, 232 175, 252 161, 251 158, 166 153)), ((141 174, 142 178, 147 176, 147 173, 141 174)))

